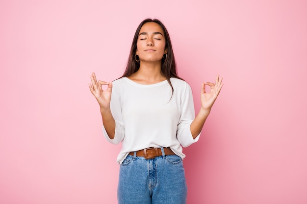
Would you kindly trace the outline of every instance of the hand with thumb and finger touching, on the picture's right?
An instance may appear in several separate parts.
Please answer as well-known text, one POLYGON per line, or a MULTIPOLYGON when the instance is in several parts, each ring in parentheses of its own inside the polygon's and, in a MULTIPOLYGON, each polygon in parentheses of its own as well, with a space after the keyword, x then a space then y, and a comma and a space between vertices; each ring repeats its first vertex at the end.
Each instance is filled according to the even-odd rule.
POLYGON ((201 104, 202 108, 205 111, 210 111, 217 96, 219 95, 223 84, 222 84, 223 78, 220 77, 220 75, 216 76, 215 84, 211 82, 202 83, 202 89, 201 89, 201 104), (205 86, 210 87, 210 92, 206 93, 205 86))

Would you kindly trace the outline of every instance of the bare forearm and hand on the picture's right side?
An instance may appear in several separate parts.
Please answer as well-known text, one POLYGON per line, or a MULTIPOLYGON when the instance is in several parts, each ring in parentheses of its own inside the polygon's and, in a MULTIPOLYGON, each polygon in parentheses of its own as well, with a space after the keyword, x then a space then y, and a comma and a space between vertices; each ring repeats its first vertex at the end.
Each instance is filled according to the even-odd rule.
POLYGON ((194 139, 202 131, 202 128, 205 124, 205 120, 207 119, 211 111, 211 108, 223 87, 222 80, 223 78, 222 77, 220 78, 219 75, 217 75, 215 79, 215 84, 210 82, 202 83, 202 89, 201 89, 202 107, 190 126, 191 134, 194 139), (205 92, 205 85, 210 86, 209 93, 205 92))

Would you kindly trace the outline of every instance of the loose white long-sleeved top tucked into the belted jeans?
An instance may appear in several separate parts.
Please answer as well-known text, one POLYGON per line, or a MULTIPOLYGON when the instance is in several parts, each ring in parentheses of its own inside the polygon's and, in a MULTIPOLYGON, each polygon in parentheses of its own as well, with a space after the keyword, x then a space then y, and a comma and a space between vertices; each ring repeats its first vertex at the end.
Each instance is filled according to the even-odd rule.
POLYGON ((183 80, 171 78, 157 84, 142 85, 127 77, 113 82, 110 109, 115 119, 115 136, 110 139, 103 127, 103 135, 113 143, 122 141, 117 157, 121 164, 129 152, 149 147, 170 147, 181 157, 182 146, 187 147, 195 139, 190 131, 195 118, 191 87, 183 80))

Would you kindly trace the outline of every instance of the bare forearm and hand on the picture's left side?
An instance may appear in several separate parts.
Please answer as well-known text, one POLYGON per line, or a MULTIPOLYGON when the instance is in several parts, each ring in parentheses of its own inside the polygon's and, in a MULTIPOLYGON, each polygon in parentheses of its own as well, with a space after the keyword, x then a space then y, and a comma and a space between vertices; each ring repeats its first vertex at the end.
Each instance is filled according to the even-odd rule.
POLYGON ((92 83, 89 83, 89 88, 99 103, 103 126, 110 139, 113 139, 115 136, 115 120, 110 110, 112 82, 97 82, 94 72, 92 72, 90 78, 92 83), (102 90, 102 85, 107 85, 105 91, 102 90))

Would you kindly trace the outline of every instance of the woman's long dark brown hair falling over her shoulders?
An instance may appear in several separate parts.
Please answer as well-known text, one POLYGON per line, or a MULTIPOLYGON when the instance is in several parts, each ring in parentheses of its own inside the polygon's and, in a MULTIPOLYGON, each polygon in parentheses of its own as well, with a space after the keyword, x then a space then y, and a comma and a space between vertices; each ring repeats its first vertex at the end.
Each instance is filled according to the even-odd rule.
POLYGON ((135 34, 134 34, 134 37, 133 37, 133 41, 132 41, 132 45, 131 45, 131 49, 130 49, 130 54, 129 54, 129 58, 128 58, 128 62, 127 62, 127 67, 126 67, 126 70, 125 70, 122 77, 129 77, 131 74, 133 74, 134 72, 136 72, 140 68, 140 62, 136 62, 136 60, 134 59, 134 55, 135 55, 135 52, 136 52, 136 49, 137 49, 136 43, 137 43, 137 39, 138 39, 139 32, 141 30, 141 27, 145 23, 149 23, 149 22, 159 24, 161 26, 163 32, 164 32, 165 49, 167 49, 167 57, 166 57, 166 55, 164 55, 163 58, 162 58, 161 74, 164 77, 166 77, 167 82, 170 84, 172 91, 174 92, 170 78, 174 77, 174 78, 178 78, 178 79, 181 79, 181 80, 183 80, 183 79, 180 78, 177 74, 177 66, 176 66, 176 62, 175 62, 175 56, 174 56, 170 36, 169 36, 169 34, 166 30, 166 27, 163 25, 163 23, 161 21, 157 20, 157 19, 145 19, 137 27, 135 34))

